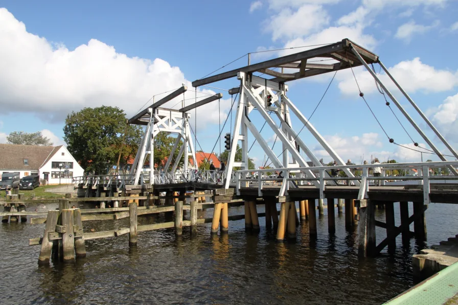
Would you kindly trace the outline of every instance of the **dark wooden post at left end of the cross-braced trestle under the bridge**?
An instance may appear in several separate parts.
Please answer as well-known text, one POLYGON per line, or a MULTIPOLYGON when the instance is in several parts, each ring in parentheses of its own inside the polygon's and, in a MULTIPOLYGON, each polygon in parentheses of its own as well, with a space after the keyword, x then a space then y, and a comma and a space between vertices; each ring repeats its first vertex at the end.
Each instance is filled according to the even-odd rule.
POLYGON ((375 208, 369 199, 359 201, 358 254, 366 257, 374 255, 375 249, 375 208))

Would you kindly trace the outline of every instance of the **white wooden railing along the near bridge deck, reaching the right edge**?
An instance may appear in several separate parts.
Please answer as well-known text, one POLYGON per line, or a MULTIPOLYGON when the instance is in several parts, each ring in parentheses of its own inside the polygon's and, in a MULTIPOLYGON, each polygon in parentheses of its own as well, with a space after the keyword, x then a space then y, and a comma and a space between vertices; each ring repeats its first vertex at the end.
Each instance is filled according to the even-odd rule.
MULTIPOLYGON (((292 182, 298 181, 319 181, 317 188, 319 188, 319 198, 324 199, 324 191, 326 187, 326 181, 338 181, 346 180, 349 181, 360 181, 358 199, 368 198, 369 191, 369 180, 374 181, 380 180, 421 180, 423 184, 423 201, 425 204, 430 203, 429 198, 429 180, 458 180, 457 176, 431 176, 429 175, 429 169, 433 168, 445 168, 446 166, 458 166, 458 161, 438 161, 438 162, 415 162, 415 163, 383 163, 377 165, 355 165, 350 167, 351 169, 362 170, 362 175, 360 177, 325 177, 325 171, 337 170, 342 168, 342 166, 322 166, 322 167, 306 167, 306 168, 278 168, 278 169, 258 169, 258 170, 240 170, 235 172, 235 184, 237 195, 240 195, 240 189, 243 186, 248 186, 249 183, 258 185, 258 195, 262 196, 263 186, 266 185, 268 181, 278 181, 281 182, 281 187, 279 191, 279 196, 284 196, 288 194, 292 182), (386 173, 388 170, 396 169, 415 169, 418 172, 417 176, 383 176, 380 177, 370 177, 369 169, 374 167, 380 167, 383 169, 383 173, 386 173), (301 173, 303 171, 314 171, 318 172, 318 177, 296 177, 295 174, 301 173), (271 178, 266 177, 266 173, 282 173, 281 177, 271 178), (290 175, 293 174, 293 175, 290 175)), ((301 175, 302 176, 302 175, 301 175)), ((380 183, 384 185, 384 183, 380 183)))

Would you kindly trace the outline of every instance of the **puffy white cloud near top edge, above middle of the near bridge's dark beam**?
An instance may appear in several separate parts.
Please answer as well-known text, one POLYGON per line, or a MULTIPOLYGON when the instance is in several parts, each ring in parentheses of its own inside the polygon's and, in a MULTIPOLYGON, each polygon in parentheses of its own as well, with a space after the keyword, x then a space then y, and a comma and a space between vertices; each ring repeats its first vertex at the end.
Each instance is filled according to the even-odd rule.
POLYGON ((304 5, 297 11, 290 8, 281 10, 266 22, 267 31, 272 32, 272 40, 296 38, 322 29, 329 23, 329 15, 319 5, 304 5))

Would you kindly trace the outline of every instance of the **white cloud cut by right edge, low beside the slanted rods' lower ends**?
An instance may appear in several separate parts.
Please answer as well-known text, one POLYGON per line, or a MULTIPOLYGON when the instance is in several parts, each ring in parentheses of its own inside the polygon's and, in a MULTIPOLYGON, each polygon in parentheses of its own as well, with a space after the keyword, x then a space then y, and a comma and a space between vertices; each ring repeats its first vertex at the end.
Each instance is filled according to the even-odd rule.
POLYGON ((458 93, 454 96, 447 97, 444 102, 437 108, 427 111, 432 116, 432 121, 442 135, 453 143, 458 143, 458 93))

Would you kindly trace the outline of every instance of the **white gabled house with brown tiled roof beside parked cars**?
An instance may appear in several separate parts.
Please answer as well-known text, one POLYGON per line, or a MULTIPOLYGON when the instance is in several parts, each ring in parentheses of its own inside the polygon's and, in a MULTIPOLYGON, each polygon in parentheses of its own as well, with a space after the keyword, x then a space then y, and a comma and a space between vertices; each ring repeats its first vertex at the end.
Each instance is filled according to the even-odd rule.
POLYGON ((48 184, 72 183, 84 170, 63 146, 0 144, 0 174, 38 175, 48 184))

